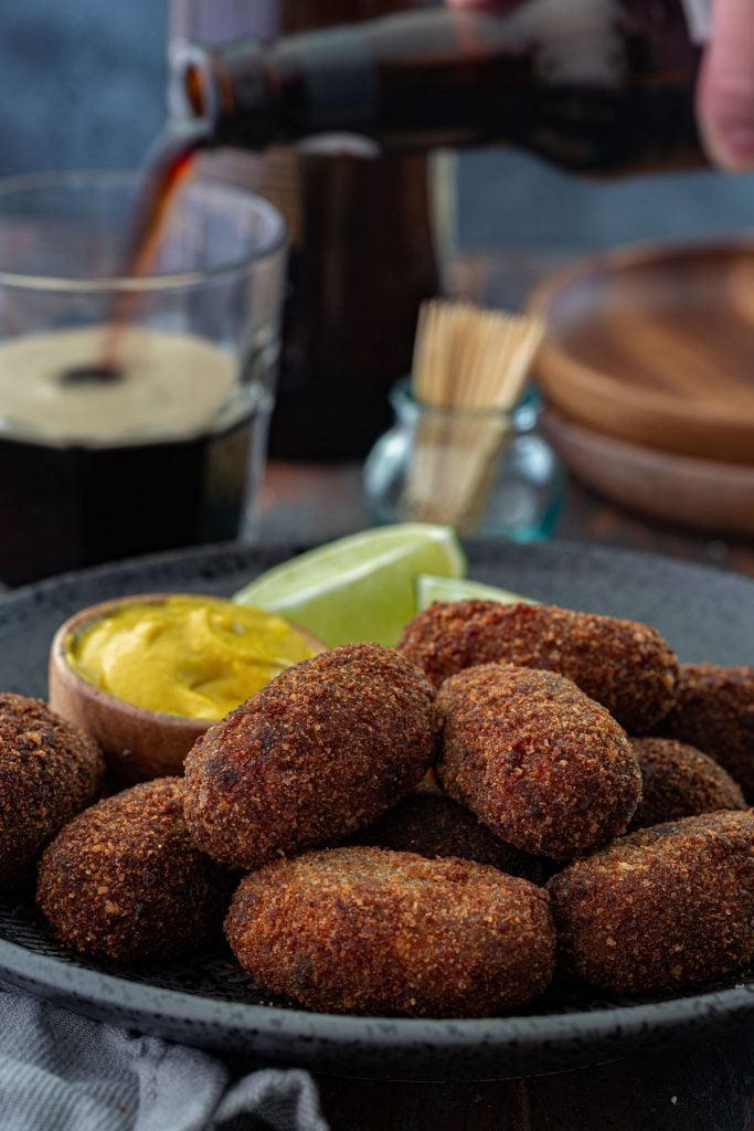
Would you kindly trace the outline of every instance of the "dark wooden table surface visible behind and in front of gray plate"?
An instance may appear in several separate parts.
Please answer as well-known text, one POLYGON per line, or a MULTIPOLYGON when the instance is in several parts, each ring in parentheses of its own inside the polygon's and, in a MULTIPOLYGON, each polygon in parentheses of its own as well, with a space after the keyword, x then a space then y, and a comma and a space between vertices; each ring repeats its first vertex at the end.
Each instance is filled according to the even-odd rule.
MULTIPOLYGON (((254 535, 324 541, 369 525, 358 465, 271 463, 254 535)), ((571 484, 558 537, 754 577, 754 543, 649 524, 571 484)), ((754 657, 753 657, 754 658, 754 657)), ((754 1028, 723 1041, 530 1080, 397 1083, 319 1078, 332 1131, 754 1131, 754 1028)))

